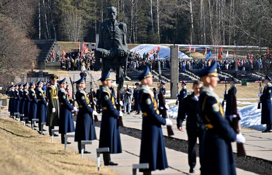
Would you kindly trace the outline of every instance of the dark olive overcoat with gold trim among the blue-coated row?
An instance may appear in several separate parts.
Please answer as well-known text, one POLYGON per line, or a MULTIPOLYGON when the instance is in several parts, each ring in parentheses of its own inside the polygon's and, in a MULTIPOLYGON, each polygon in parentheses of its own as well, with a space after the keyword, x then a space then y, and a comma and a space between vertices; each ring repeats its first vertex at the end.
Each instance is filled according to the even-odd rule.
POLYGON ((59 124, 59 103, 57 96, 57 87, 50 85, 46 89, 46 97, 48 98, 47 106, 47 121, 46 126, 58 126, 59 124), (56 111, 52 112, 52 108, 55 108, 56 111))

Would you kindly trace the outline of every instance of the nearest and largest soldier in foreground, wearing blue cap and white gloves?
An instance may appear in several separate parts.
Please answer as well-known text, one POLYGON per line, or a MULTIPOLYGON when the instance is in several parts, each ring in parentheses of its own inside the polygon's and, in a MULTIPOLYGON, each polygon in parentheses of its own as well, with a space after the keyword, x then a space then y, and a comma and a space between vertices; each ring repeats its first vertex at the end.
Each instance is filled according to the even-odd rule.
POLYGON ((198 111, 206 127, 201 155, 201 175, 236 175, 231 142, 245 142, 230 126, 233 116, 224 116, 223 107, 214 88, 219 81, 217 62, 197 72, 203 87, 200 89, 198 111))

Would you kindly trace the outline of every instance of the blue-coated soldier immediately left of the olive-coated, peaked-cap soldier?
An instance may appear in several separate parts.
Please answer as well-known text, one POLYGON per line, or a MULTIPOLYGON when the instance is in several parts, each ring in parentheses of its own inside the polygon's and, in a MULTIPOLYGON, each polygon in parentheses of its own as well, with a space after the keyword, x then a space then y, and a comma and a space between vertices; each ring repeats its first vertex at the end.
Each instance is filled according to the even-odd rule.
POLYGON ((39 80, 36 84, 38 86, 37 89, 37 100, 38 100, 38 104, 37 104, 37 118, 39 119, 39 131, 41 131, 42 127, 41 127, 41 123, 45 123, 46 122, 46 117, 47 117, 47 105, 48 103, 45 100, 45 93, 42 89, 42 87, 44 86, 44 83, 39 80))

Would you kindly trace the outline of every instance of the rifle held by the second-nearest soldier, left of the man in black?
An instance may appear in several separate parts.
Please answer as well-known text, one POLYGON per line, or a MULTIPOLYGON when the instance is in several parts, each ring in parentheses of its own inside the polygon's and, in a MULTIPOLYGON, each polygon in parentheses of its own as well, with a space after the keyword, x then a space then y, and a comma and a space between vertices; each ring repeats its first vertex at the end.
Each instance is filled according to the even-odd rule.
MULTIPOLYGON (((160 62, 159 62, 159 79, 161 78, 161 66, 160 66, 160 62)), ((161 107, 160 111, 162 113, 162 117, 163 118, 168 118, 167 116, 167 108, 166 108, 166 104, 165 104, 165 97, 164 94, 162 92, 162 88, 159 88, 159 105, 161 107)), ((168 136, 173 136, 174 132, 172 129, 172 126, 166 126, 167 127, 167 133, 168 136)))

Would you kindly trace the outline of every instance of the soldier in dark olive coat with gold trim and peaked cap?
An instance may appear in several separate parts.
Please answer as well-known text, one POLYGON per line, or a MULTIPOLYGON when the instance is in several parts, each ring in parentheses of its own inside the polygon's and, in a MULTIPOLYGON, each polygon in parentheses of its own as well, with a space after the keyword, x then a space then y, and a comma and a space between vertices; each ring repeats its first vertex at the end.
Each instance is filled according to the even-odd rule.
MULTIPOLYGON (((48 106, 47 106, 47 120, 46 126, 49 129, 49 135, 51 136, 52 129, 55 126, 59 125, 59 103, 58 103, 58 96, 57 96, 57 75, 53 75, 50 77, 51 85, 49 85, 46 89, 46 97, 48 99, 48 106)), ((58 136, 54 134, 54 136, 58 136)))

